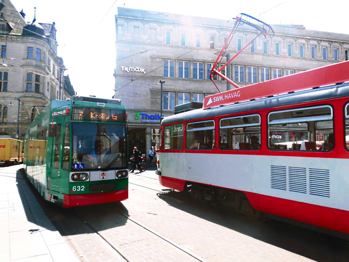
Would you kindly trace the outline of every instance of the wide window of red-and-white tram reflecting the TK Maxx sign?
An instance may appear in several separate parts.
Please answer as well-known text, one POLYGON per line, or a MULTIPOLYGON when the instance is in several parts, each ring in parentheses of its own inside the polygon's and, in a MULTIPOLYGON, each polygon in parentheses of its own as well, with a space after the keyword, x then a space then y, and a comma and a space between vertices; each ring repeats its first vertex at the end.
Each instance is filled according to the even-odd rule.
POLYGON ((272 112, 268 117, 268 148, 270 150, 331 150, 332 147, 325 148, 322 144, 325 136, 328 137, 331 133, 333 136, 332 118, 332 108, 328 105, 272 112))

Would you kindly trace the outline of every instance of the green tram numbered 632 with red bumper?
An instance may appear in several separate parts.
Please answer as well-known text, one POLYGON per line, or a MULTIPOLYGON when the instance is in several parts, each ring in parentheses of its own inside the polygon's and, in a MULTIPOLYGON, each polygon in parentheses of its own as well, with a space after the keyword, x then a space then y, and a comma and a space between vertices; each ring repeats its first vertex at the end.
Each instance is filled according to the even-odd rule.
POLYGON ((118 99, 50 102, 25 136, 24 169, 48 201, 69 208, 128 198, 126 109, 118 99))

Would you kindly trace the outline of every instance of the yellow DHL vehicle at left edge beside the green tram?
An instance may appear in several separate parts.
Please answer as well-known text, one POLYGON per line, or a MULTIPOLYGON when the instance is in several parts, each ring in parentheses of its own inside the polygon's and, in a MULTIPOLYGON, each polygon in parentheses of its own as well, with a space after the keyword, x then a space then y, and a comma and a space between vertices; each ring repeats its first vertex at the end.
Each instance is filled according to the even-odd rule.
POLYGON ((0 138, 0 163, 23 162, 23 141, 0 138))

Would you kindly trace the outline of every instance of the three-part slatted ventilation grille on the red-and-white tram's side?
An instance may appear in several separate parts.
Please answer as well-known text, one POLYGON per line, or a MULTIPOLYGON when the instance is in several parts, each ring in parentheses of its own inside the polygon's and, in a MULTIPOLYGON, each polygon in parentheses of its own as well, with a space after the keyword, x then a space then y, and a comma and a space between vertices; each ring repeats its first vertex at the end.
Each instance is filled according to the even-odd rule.
POLYGON ((327 169, 270 166, 270 183, 274 189, 330 197, 327 169))

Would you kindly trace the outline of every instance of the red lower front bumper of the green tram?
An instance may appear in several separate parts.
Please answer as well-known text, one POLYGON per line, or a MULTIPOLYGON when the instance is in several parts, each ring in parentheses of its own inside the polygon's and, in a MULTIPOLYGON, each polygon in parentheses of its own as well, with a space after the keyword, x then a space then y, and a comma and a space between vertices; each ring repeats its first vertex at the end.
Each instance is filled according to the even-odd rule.
POLYGON ((63 207, 71 208, 73 206, 95 205, 108 202, 126 200, 128 198, 128 189, 91 193, 84 195, 63 195, 63 207))

